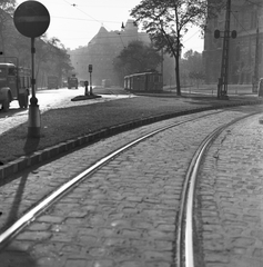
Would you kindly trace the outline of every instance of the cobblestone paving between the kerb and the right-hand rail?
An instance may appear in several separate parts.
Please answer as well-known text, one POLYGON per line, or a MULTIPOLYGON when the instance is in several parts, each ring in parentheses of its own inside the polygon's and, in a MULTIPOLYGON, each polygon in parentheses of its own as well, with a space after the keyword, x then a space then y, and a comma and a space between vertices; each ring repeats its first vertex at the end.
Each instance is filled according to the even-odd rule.
MULTIPOLYGON (((1 253, 1 267, 172 266, 181 189, 194 151, 212 129, 251 109, 166 130, 123 152, 18 235, 1 253)), ((14 177, 1 187, 0 227, 117 146, 164 123, 118 135, 14 177)))

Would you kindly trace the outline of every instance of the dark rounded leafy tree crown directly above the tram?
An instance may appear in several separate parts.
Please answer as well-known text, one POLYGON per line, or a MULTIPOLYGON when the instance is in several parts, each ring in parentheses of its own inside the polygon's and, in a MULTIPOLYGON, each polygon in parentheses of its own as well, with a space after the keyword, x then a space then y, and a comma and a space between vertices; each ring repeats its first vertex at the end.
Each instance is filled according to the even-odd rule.
POLYGON ((113 61, 117 72, 131 75, 142 72, 149 69, 155 69, 161 62, 160 53, 151 46, 142 41, 132 41, 124 48, 113 61))

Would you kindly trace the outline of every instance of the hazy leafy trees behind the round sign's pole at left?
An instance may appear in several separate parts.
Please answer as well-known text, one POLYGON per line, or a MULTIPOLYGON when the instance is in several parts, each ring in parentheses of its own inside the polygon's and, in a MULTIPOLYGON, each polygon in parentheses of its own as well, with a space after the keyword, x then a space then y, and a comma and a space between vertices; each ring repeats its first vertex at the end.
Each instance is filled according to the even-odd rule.
MULTIPOLYGON (((4 60, 31 68, 30 39, 19 33, 13 24, 16 0, 0 0, 0 51, 4 60), (17 61, 18 59, 18 61, 17 61)), ((70 56, 58 38, 48 39, 45 34, 36 38, 36 79, 45 80, 55 73, 60 79, 72 70, 70 56)), ((45 82, 41 82, 44 85, 45 82)))

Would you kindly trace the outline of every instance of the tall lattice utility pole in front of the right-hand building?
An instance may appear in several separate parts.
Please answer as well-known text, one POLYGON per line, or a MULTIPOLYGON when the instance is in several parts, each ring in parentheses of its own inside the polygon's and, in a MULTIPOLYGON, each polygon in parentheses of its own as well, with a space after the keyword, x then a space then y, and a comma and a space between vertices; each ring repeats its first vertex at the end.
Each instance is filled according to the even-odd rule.
POLYGON ((230 16, 231 16, 231 0, 227 0, 225 12, 225 29, 223 39, 223 51, 221 62, 221 77, 218 85, 218 98, 229 99, 227 82, 229 82, 229 50, 230 50, 230 16))

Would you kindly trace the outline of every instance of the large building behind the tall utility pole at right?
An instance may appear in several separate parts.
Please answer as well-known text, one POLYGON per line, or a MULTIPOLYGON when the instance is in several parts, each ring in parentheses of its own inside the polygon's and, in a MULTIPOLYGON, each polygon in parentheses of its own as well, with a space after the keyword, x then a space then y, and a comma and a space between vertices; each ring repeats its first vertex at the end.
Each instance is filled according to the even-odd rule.
MULTIPOLYGON (((232 0, 231 11, 230 30, 236 30, 237 38, 230 39, 229 83, 252 83, 256 70, 259 78, 263 77, 263 2, 232 0)), ((208 21, 203 51, 208 83, 218 82, 221 75, 223 39, 215 39, 214 30, 224 31, 224 24, 225 10, 208 21)))

